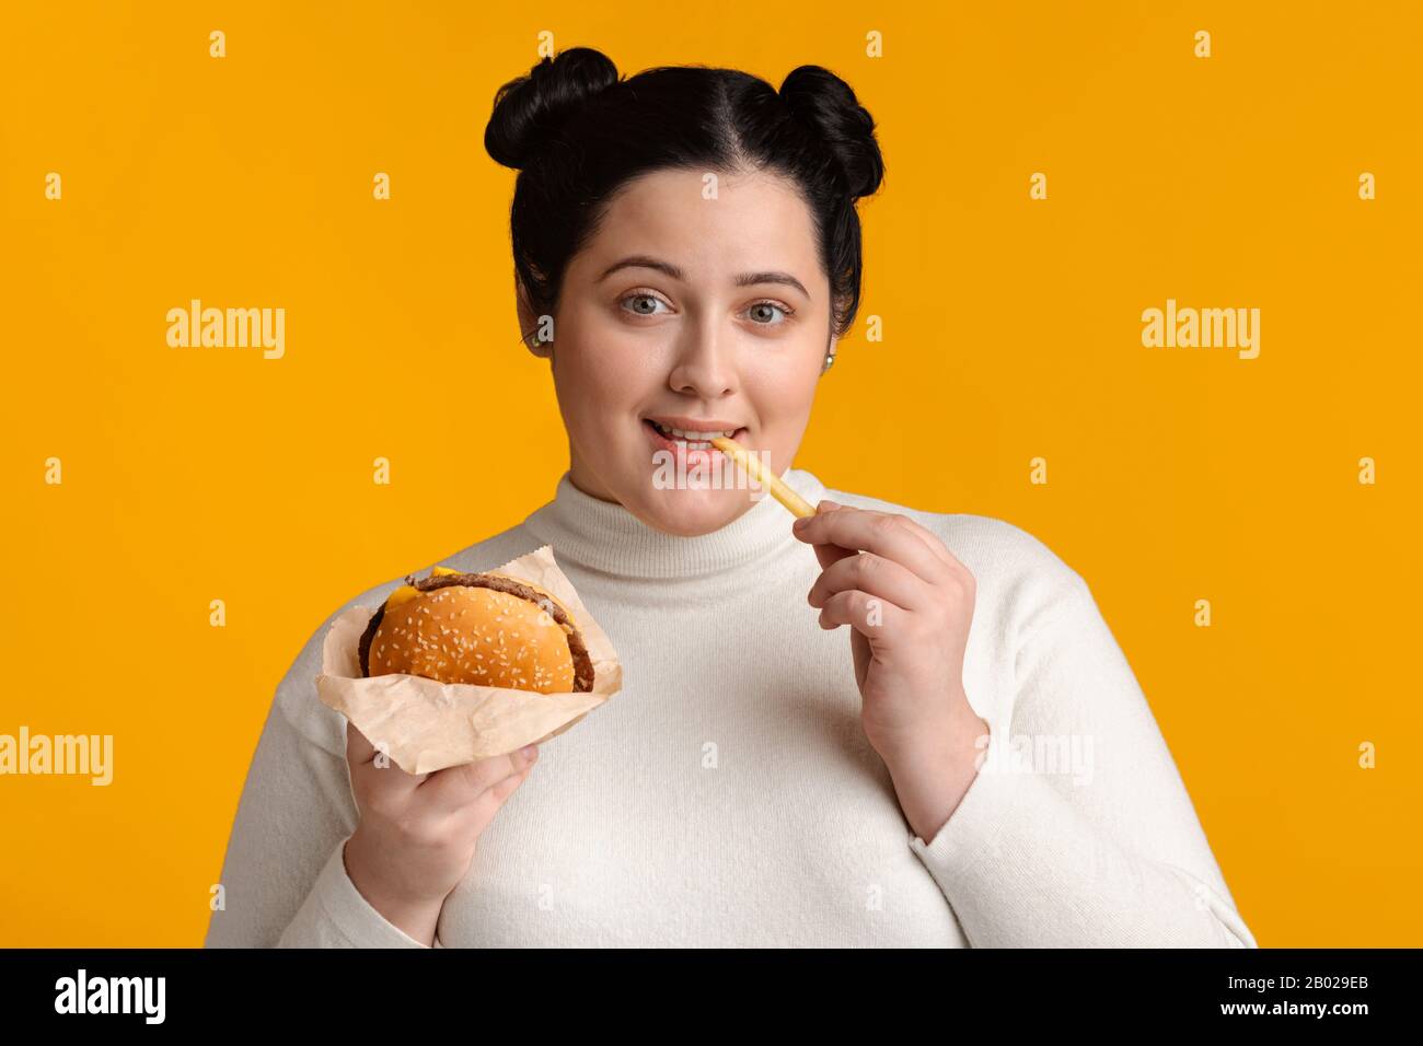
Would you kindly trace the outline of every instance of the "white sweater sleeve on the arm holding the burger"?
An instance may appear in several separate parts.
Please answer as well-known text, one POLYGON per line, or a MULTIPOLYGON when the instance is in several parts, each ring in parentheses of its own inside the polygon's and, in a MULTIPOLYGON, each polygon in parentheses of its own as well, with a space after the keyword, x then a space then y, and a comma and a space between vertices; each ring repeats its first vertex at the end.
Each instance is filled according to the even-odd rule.
MULTIPOLYGON (((423 948, 387 922, 346 874, 343 852, 357 810, 344 751, 336 754, 297 730, 282 702, 287 687, 312 687, 309 700, 319 700, 310 655, 309 645, 262 729, 228 841, 223 905, 212 912, 205 946, 423 948)), ((340 713, 323 710, 344 723, 340 713)))

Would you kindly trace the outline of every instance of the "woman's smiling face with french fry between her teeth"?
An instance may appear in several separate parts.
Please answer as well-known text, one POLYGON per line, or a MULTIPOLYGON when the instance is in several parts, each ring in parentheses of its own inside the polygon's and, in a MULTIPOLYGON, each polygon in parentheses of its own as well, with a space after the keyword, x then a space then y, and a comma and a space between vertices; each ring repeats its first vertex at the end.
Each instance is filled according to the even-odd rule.
MULTIPOLYGON (((649 418, 737 430, 780 475, 832 344, 805 204, 758 172, 719 175, 713 199, 704 185, 699 171, 657 171, 616 195, 568 266, 551 346, 573 485, 679 535, 731 522, 751 484, 730 468, 712 488, 721 453, 665 440, 649 418)), ((538 326, 522 300, 519 322, 538 326)))

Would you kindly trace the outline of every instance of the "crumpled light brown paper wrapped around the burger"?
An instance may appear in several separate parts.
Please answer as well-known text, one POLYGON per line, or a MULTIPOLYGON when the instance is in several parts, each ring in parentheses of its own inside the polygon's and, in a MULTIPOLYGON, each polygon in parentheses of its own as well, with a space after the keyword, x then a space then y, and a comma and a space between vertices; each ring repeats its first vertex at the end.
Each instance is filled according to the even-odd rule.
POLYGON ((495 568, 541 585, 573 615, 593 662, 591 693, 535 693, 440 683, 424 676, 360 675, 360 638, 379 608, 353 606, 332 622, 316 693, 406 773, 425 774, 538 744, 568 730, 622 689, 622 663, 544 545, 495 568))

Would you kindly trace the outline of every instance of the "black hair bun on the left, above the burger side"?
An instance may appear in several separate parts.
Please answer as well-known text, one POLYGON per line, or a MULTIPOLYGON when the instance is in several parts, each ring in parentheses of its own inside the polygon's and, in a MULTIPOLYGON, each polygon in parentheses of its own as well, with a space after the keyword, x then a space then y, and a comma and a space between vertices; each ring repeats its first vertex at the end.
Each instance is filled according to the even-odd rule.
POLYGON ((527 77, 504 84, 484 128, 484 148, 495 162, 522 169, 558 137, 582 104, 618 83, 618 67, 592 47, 545 57, 527 77))

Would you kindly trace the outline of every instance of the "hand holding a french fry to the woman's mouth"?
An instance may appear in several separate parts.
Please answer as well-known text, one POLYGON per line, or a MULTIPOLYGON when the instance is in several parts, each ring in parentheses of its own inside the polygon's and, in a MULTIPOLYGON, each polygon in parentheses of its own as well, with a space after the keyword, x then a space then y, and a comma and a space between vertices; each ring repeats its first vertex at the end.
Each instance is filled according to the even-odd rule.
POLYGON ((928 841, 972 784, 989 733, 963 692, 973 575, 899 514, 827 500, 793 531, 824 568, 807 593, 821 628, 851 626, 865 737, 928 841))

